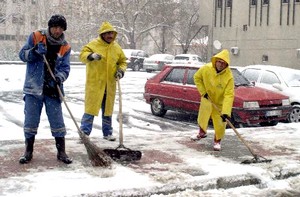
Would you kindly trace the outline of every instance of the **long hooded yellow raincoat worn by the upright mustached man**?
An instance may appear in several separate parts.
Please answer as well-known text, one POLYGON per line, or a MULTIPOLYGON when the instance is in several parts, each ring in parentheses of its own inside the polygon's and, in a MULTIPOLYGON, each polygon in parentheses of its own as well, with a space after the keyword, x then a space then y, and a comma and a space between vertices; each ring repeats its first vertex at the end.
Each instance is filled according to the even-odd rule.
POLYGON ((116 95, 117 69, 127 68, 126 57, 122 48, 115 42, 117 32, 108 22, 103 22, 98 30, 99 37, 85 45, 80 52, 80 60, 86 64, 85 113, 98 116, 103 95, 106 92, 105 116, 111 116, 116 95), (105 32, 115 32, 114 41, 106 43, 101 38, 105 32), (89 61, 91 53, 101 55, 100 60, 89 61))

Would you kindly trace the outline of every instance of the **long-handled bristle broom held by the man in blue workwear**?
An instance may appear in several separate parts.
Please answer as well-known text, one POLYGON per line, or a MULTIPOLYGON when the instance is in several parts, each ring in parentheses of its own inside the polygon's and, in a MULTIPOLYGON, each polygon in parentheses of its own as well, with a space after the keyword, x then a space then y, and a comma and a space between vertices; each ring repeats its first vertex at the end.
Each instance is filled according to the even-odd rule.
MULTIPOLYGON (((55 76, 51 70, 51 67, 45 57, 45 55, 43 55, 43 58, 44 58, 44 62, 46 63, 46 66, 47 66, 47 69, 48 71, 50 72, 50 75, 51 77, 54 79, 54 81, 56 81, 55 79, 55 76)), ((59 96, 61 98, 61 100, 64 102, 73 122, 75 123, 75 126, 77 128, 77 131, 78 131, 78 134, 79 134, 79 137, 81 138, 86 150, 87 150, 87 153, 88 153, 88 157, 91 161, 91 164, 93 166, 103 166, 103 167, 110 167, 111 164, 112 164, 112 159, 110 157, 108 157, 105 152, 103 152, 102 149, 100 149, 98 146, 96 146, 93 142, 90 141, 89 137, 87 135, 85 135, 79 128, 73 114, 71 113, 71 110, 69 109, 68 105, 67 105, 67 102, 59 88, 58 85, 57 86, 57 90, 58 90, 58 93, 59 93, 59 96)))

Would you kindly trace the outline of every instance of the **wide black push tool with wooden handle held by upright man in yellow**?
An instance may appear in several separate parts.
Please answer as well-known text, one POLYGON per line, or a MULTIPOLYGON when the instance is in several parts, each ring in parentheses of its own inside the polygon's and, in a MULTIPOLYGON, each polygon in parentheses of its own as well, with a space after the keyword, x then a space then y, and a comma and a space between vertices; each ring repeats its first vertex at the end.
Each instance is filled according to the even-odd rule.
POLYGON ((140 160, 141 151, 131 150, 123 145, 123 116, 122 116, 122 93, 120 79, 117 78, 119 89, 119 146, 115 149, 104 149, 103 151, 115 161, 131 162, 140 160))

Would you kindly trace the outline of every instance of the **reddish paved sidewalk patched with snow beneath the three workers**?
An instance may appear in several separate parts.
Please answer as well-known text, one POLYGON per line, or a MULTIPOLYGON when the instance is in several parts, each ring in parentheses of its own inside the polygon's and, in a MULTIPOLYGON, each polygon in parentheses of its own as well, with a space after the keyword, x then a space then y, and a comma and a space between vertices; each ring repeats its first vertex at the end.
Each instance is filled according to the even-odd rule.
MULTIPOLYGON (((118 145, 118 142, 111 143, 96 138, 91 138, 91 140, 101 148, 113 148, 118 145)), ((0 183, 6 182, 5 180, 8 180, 8 182, 13 179, 18 180, 19 178, 22 180, 23 177, 53 171, 63 171, 65 173, 85 172, 97 178, 101 178, 99 173, 102 172, 100 176, 111 177, 117 176, 117 174, 114 174, 116 172, 112 174, 112 171, 118 171, 120 168, 123 171, 133 171, 133 174, 137 174, 145 179, 150 177, 153 184, 147 187, 140 187, 133 182, 132 184, 128 183, 123 188, 99 189, 99 191, 96 190, 94 192, 83 192, 78 194, 78 196, 151 196, 175 194, 186 190, 203 192, 212 189, 229 189, 251 185, 266 187, 264 184, 268 179, 281 180, 293 178, 300 174, 299 154, 287 147, 267 149, 257 142, 249 142, 249 145, 254 147, 253 150, 256 154, 263 155, 273 161, 271 163, 246 165, 240 163, 246 159, 252 159, 253 156, 234 135, 226 136, 222 142, 222 151, 220 152, 212 150, 212 135, 199 142, 190 141, 187 136, 175 137, 174 140, 170 140, 168 148, 163 145, 162 141, 165 141, 165 139, 161 138, 160 141, 162 144, 161 149, 157 149, 157 146, 155 146, 155 149, 152 149, 151 146, 148 146, 143 141, 137 142, 134 147, 130 148, 141 150, 143 153, 142 159, 127 164, 114 163, 112 169, 91 167, 84 145, 79 143, 78 138, 66 139, 67 153, 74 160, 70 165, 65 165, 56 160, 54 139, 37 139, 33 160, 25 165, 18 163, 18 158, 24 151, 23 141, 0 141, 0 183), (174 148, 182 147, 182 149, 173 149, 172 145, 170 145, 172 143, 177 143, 174 148), (188 160, 195 160, 196 165, 190 165, 191 161, 188 160), (298 165, 280 166, 282 164, 278 163, 279 160, 294 161, 298 165), (207 168, 209 165, 215 166, 207 168), (215 167, 216 171, 211 170, 211 167, 215 167), (233 174, 232 169, 228 168, 236 168, 236 173, 233 174), (96 174, 95 171, 97 171, 96 174), (257 174, 257 172, 261 174, 257 174), (105 173, 106 175, 103 175, 105 173)), ((83 177, 80 177, 80 174, 78 175, 78 178, 82 179, 82 183, 84 183, 83 177)), ((106 182, 103 177, 101 181, 106 182)), ((110 181, 110 179, 107 179, 107 184, 110 181)), ((128 177, 127 179, 126 177, 124 179, 121 177, 119 181, 128 182, 128 177)), ((16 185, 10 185, 10 187, 21 188, 20 194, 22 194, 22 187, 26 188, 27 184, 27 181, 17 181, 16 185)), ((0 196, 11 192, 8 191, 5 185, 0 185, 0 196)), ((24 190, 26 191, 26 189, 24 190)), ((71 196, 77 196, 77 194, 72 194, 71 196)))

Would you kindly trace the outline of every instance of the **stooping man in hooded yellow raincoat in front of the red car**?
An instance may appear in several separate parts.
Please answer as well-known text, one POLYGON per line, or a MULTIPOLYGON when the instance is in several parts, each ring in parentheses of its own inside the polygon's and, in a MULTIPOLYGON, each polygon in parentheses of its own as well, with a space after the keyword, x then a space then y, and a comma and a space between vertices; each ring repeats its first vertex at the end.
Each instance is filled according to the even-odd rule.
POLYGON ((193 140, 205 138, 209 119, 215 130, 213 148, 221 150, 221 139, 225 135, 226 119, 231 116, 234 100, 234 79, 229 68, 229 52, 222 50, 202 66, 194 75, 201 95, 198 113, 199 133, 193 140))

